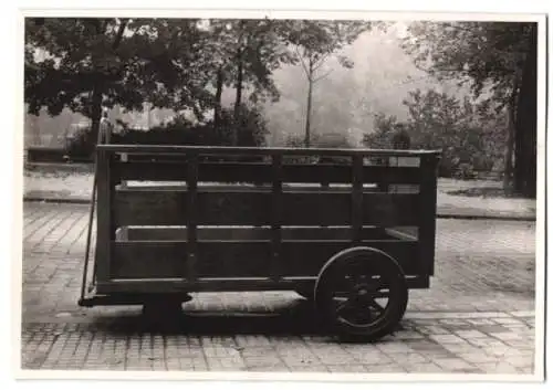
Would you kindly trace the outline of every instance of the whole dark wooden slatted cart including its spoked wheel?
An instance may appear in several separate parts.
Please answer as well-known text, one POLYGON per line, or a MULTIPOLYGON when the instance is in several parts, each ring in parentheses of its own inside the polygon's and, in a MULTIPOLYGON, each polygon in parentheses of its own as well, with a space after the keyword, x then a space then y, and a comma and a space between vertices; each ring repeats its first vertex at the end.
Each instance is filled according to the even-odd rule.
POLYGON ((425 150, 98 145, 95 257, 80 305, 296 291, 340 333, 380 337, 403 317, 407 289, 434 275, 438 160, 425 150), (375 304, 386 292, 390 308, 375 304), (359 326, 336 305, 382 313, 366 310, 359 326))

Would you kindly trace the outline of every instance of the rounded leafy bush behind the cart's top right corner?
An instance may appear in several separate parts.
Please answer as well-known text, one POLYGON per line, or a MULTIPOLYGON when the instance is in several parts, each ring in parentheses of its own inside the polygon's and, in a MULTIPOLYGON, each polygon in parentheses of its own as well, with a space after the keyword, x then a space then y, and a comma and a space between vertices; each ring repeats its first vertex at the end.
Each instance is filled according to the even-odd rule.
POLYGON ((411 148, 442 150, 440 175, 446 177, 458 170, 488 171, 501 159, 494 150, 500 141, 498 122, 491 120, 486 105, 434 89, 414 91, 404 104, 409 110, 405 123, 382 114, 375 117, 375 130, 364 139, 367 147, 394 148, 395 136, 405 131, 411 148))

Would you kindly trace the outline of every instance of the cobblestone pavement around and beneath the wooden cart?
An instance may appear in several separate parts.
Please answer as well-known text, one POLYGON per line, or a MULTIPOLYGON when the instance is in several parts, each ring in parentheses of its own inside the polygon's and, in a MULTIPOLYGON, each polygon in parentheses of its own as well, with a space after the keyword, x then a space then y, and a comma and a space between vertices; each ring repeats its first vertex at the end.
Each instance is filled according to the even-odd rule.
POLYGON ((196 294, 181 322, 80 308, 87 207, 25 203, 22 368, 532 373, 535 224, 439 220, 436 276, 401 328, 338 344, 295 293, 196 294))

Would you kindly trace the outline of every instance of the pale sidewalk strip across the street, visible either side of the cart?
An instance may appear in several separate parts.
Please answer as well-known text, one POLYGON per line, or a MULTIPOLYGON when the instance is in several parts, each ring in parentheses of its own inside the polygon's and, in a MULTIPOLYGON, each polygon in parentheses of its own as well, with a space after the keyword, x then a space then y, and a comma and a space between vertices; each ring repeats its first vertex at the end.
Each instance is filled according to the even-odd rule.
MULTIPOLYGON (((63 171, 27 171, 24 200, 48 202, 88 203, 93 173, 63 171)), ((491 180, 438 180, 438 218, 500 219, 535 221, 536 205, 532 199, 504 197, 474 197, 452 194, 474 188, 499 189, 501 182, 491 180)))

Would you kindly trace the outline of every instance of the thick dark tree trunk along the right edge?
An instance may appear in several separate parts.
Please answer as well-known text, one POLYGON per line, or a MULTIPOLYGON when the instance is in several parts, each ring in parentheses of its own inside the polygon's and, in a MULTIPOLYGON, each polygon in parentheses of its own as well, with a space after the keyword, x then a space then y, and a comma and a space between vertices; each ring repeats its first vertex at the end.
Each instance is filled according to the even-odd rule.
POLYGON ((531 27, 517 107, 514 190, 534 198, 536 192, 538 24, 531 27))

